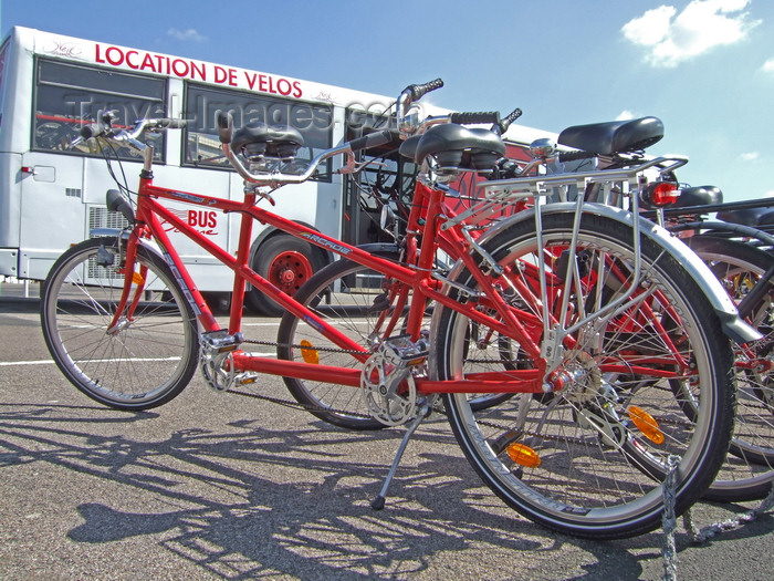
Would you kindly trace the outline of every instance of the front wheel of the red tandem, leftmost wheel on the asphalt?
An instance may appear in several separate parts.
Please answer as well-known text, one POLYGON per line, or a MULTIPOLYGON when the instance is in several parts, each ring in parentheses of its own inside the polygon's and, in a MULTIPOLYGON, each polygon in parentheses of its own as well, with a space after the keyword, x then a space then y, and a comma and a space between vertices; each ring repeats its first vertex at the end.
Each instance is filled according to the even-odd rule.
POLYGON ((116 238, 67 250, 45 281, 41 322, 62 373, 84 394, 116 409, 148 409, 188 385, 198 361, 198 328, 169 267, 137 249, 145 290, 132 317, 108 330, 121 299, 116 238))

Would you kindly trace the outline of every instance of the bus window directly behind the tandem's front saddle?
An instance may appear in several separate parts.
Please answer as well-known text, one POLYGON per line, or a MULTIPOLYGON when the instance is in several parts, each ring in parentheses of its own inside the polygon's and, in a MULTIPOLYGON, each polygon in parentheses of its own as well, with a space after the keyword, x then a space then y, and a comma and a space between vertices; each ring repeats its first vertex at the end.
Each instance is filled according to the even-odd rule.
MULTIPOLYGON (((231 168, 223 157, 218 139, 218 111, 230 111, 234 127, 252 122, 268 125, 290 125, 304 136, 294 164, 303 168, 315 155, 332 146, 333 107, 290 100, 257 96, 240 91, 215 90, 189 84, 186 87, 186 152, 182 163, 200 167, 231 168)), ((318 179, 330 181, 331 160, 321 166, 318 179)), ((292 172, 285 166, 284 172, 292 172)))

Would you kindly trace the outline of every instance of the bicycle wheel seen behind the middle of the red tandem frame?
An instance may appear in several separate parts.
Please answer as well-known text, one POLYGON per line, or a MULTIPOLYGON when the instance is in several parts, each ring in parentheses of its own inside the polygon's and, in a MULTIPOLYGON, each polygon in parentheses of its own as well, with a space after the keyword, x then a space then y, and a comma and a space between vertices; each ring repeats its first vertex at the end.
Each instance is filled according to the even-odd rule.
MULTIPOLYGON (((397 256, 384 256, 397 260, 397 256)), ((316 272, 299 289, 294 299, 355 339, 369 353, 385 332, 388 282, 384 274, 347 259, 337 260, 316 272)), ((394 330, 395 333, 399 333, 394 330)), ((359 367, 352 354, 343 352, 313 326, 285 313, 278 332, 278 357, 321 365, 359 367)), ((362 390, 322 381, 284 377, 295 400, 318 418, 348 429, 379 429, 362 390)))

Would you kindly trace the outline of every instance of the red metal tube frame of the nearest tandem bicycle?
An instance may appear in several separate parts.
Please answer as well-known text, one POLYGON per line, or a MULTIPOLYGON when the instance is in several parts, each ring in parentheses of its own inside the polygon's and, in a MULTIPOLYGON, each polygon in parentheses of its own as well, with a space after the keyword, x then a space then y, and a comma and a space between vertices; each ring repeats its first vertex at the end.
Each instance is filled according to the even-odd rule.
MULTIPOLYGON (((415 196, 418 200, 423 199, 426 203, 428 216, 446 216, 448 208, 443 207, 444 193, 438 189, 429 188, 422 184, 418 184, 415 196)), ((252 231, 253 220, 260 220, 263 224, 271 225, 292 236, 302 238, 321 248, 333 251, 342 257, 346 257, 359 264, 372 268, 387 277, 395 279, 414 292, 411 303, 409 305, 409 315, 407 329, 412 335, 412 339, 419 336, 419 326, 425 310, 425 304, 428 301, 451 307, 461 311, 466 317, 473 321, 484 323, 494 331, 502 333, 520 343, 527 355, 535 361, 536 365, 531 370, 512 371, 509 374, 513 377, 511 381, 503 382, 502 372, 498 374, 496 380, 488 381, 485 376, 471 381, 468 377, 463 381, 431 381, 417 380, 417 387, 422 393, 542 393, 543 375, 545 372, 545 363, 541 359, 540 347, 531 339, 531 335, 525 328, 524 320, 517 319, 512 309, 504 302, 498 293, 492 293, 489 299, 492 302, 492 308, 496 311, 499 319, 492 318, 477 310, 474 305, 462 304, 459 301, 450 299, 441 292, 441 281, 432 277, 432 262, 436 249, 440 248, 447 252, 454 252, 457 258, 473 272, 477 281, 481 286, 485 286, 487 276, 480 272, 480 268, 474 263, 473 257, 467 251, 459 251, 459 248, 468 249, 469 242, 460 235, 461 227, 449 228, 443 232, 443 236, 437 237, 438 228, 433 220, 427 220, 421 230, 422 241, 421 248, 418 249, 416 237, 411 237, 409 253, 419 250, 416 257, 416 267, 399 264, 390 260, 386 260, 378 256, 374 256, 357 247, 341 242, 334 238, 322 235, 312 228, 293 222, 282 218, 266 209, 255 206, 257 195, 247 193, 242 201, 231 201, 223 198, 200 196, 187 191, 158 187, 153 184, 153 176, 149 173, 144 173, 140 177, 138 197, 137 197, 137 226, 133 230, 127 247, 126 262, 132 264, 135 257, 136 245, 142 239, 153 238, 161 249, 161 255, 172 269, 178 283, 184 289, 186 297, 190 301, 194 312, 197 314, 205 332, 219 331, 221 328, 216 321, 207 302, 201 297, 196 288, 196 283, 190 277, 188 270, 182 263, 179 255, 175 250, 174 245, 169 240, 165 228, 161 226, 161 220, 166 220, 181 234, 190 238, 194 242, 201 246, 206 251, 216 257, 224 266, 229 267, 234 272, 233 300, 229 317, 229 334, 236 334, 241 331, 241 307, 244 297, 245 284, 249 282, 262 292, 265 292, 271 299, 281 304, 289 312, 302 319, 306 323, 317 329, 325 338, 336 343, 341 349, 351 352, 363 352, 363 355, 355 355, 360 361, 365 362, 369 353, 362 345, 355 343, 346 335, 337 331, 334 326, 321 319, 310 309, 306 309, 292 297, 285 294, 280 289, 271 284, 266 279, 253 271, 248 266, 249 245, 252 231), (208 209, 218 209, 228 212, 239 212, 242 216, 239 234, 239 243, 236 256, 227 252, 223 248, 213 243, 205 236, 196 231, 188 224, 178 218, 174 212, 161 205, 159 199, 169 199, 176 201, 185 201, 196 206, 203 206, 208 209), (429 243, 428 243, 429 242, 429 243), (458 250, 454 251, 453 249, 458 250)), ((420 205, 415 204, 415 208, 420 205)), ((409 229, 420 227, 420 210, 412 211, 409 229)), ((121 299, 117 313, 123 313, 125 310, 128 317, 132 317, 132 311, 136 307, 139 297, 143 292, 142 273, 139 279, 135 276, 125 277, 125 287, 121 299), (132 295, 132 283, 140 281, 140 284, 134 290, 132 295)), ((118 319, 122 315, 116 314, 111 326, 118 324, 118 319)), ((529 323, 529 321, 527 321, 529 323)), ((358 387, 360 385, 360 372, 347 367, 330 367, 322 365, 307 365, 300 362, 273 360, 266 357, 253 357, 248 353, 236 351, 233 353, 233 365, 240 371, 253 371, 272 375, 282 375, 286 377, 296 377, 302 380, 314 381, 331 381, 343 385, 352 385, 358 387)))

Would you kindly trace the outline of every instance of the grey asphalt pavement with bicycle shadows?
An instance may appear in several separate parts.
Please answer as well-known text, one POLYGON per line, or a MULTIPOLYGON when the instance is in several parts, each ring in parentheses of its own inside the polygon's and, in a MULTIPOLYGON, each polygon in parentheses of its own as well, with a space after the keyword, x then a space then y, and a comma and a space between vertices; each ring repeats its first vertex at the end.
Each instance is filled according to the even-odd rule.
MULTIPOLYGON (((216 393, 196 377, 169 404, 121 413, 60 374, 38 301, 0 289, 0 579, 658 580, 661 530, 595 542, 546 531, 477 480, 442 418, 352 433, 306 412, 216 393)), ((34 294, 34 292, 32 293, 34 294)), ((275 332, 271 319, 245 324, 275 332)), ((280 400, 282 381, 251 390, 280 400)), ((759 502, 700 502, 698 527, 759 502)), ((694 544, 678 523, 677 579, 774 577, 771 512, 694 544)))

